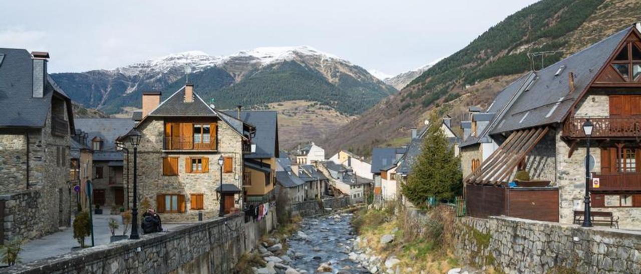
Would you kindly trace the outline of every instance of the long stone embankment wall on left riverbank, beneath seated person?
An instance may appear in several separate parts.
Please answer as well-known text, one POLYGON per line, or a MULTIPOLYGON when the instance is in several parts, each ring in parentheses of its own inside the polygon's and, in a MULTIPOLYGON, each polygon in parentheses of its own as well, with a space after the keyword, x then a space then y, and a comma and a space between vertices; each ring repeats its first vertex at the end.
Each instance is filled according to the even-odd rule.
MULTIPOLYGON (((5 269, 7 273, 231 273, 246 246, 242 213, 5 269)), ((253 242, 255 244, 255 242, 253 242)))

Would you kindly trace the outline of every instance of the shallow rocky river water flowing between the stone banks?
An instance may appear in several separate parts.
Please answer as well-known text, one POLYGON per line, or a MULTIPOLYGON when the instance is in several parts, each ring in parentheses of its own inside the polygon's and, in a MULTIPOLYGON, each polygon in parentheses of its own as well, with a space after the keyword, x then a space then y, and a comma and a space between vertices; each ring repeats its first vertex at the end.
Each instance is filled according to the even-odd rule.
POLYGON ((332 273, 369 273, 347 255, 356 238, 351 218, 350 213, 305 218, 299 232, 287 239, 294 259, 290 265, 308 273, 316 273, 323 263, 332 273))

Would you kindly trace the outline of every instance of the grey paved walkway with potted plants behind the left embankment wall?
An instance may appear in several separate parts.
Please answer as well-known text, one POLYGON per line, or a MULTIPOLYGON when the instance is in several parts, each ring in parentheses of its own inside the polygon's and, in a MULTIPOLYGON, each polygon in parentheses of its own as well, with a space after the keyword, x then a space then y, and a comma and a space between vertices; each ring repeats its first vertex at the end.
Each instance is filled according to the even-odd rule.
MULTIPOLYGON (((109 212, 108 208, 104 209, 105 213, 109 212)), ((110 215, 110 214, 101 214, 94 215, 94 241, 97 245, 106 245, 110 243, 110 237, 112 233, 109 231, 107 223, 110 218, 115 218, 121 222, 121 217, 119 215, 110 215)), ((184 223, 163 223, 163 229, 165 230, 175 230, 176 227, 185 225, 184 223)), ((131 229, 129 229, 131 232, 131 229)), ((142 234, 142 230, 138 229, 138 232, 142 234)), ((55 255, 65 254, 71 252, 71 248, 74 246, 79 246, 78 241, 73 238, 74 231, 71 227, 68 227, 60 232, 44 236, 40 239, 35 239, 29 241, 23 245, 22 252, 20 252, 20 259, 24 262, 36 261, 38 259, 45 259, 55 255)), ((116 232, 116 235, 122 235, 122 225, 116 232)), ((91 245, 91 237, 85 238, 85 244, 91 245)))

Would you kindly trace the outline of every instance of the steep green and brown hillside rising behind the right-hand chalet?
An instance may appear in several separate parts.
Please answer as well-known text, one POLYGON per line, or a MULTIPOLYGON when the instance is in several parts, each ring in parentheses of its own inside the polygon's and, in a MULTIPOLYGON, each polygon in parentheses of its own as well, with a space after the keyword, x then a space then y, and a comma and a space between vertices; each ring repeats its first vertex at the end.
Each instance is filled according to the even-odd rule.
POLYGON ((512 79, 540 69, 641 19, 641 1, 543 0, 510 15, 438 62, 401 92, 324 141, 330 151, 371 147, 407 134, 438 108, 456 122, 467 106, 487 106, 512 79), (635 12, 636 11, 636 12, 635 12), (529 54, 549 52, 528 58, 529 54))

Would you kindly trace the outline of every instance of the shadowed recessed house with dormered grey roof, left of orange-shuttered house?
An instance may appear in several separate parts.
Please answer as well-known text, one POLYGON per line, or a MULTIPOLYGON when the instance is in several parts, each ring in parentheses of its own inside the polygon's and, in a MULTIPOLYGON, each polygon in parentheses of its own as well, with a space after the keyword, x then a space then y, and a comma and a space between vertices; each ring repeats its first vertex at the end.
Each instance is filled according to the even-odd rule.
POLYGON ((120 149, 115 140, 133 128, 134 122, 124 118, 83 118, 76 119, 76 128, 87 133, 91 149, 94 150, 92 202, 94 205, 109 206, 114 213, 121 207, 128 209, 126 197, 129 181, 123 175, 124 158, 131 157, 120 149))

